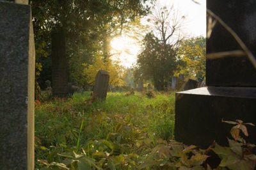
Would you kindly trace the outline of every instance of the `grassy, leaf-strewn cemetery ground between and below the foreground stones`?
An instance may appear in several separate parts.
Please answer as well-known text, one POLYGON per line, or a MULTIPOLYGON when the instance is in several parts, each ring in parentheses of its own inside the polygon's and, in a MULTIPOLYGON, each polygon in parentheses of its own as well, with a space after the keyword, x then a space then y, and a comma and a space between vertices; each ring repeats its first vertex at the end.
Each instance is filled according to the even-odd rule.
POLYGON ((35 168, 254 169, 255 145, 242 138, 252 123, 225 121, 233 126, 229 147, 202 150, 173 140, 174 107, 175 91, 109 92, 104 102, 90 91, 51 99, 44 93, 35 102, 35 168), (218 164, 211 164, 212 151, 218 164))

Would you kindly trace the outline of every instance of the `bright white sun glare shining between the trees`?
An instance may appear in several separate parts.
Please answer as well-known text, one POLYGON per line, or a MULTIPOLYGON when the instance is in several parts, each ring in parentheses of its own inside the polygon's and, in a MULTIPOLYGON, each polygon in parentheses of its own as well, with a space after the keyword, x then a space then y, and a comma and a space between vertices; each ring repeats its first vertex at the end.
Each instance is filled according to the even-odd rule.
POLYGON ((126 67, 132 66, 136 62, 140 46, 136 40, 127 36, 119 36, 111 41, 113 59, 118 59, 120 64, 126 67))

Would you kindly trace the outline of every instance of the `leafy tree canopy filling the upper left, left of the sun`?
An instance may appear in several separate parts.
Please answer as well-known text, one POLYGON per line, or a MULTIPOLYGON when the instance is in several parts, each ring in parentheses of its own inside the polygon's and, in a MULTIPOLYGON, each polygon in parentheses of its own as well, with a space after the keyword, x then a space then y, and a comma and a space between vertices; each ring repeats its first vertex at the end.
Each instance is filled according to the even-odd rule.
MULTIPOLYGON (((143 6, 145 1, 150 0, 31 0, 34 24, 38 24, 35 35, 44 36, 40 31, 46 30, 45 40, 54 48, 56 45, 52 46, 49 39, 53 32, 61 33, 66 44, 59 48, 61 54, 66 52, 63 58, 71 61, 74 72, 82 73, 83 69, 77 69, 76 65, 90 63, 99 50, 108 58, 112 36, 122 33, 125 24, 148 12, 148 7, 143 6)), ((49 55, 54 57, 52 51, 49 50, 49 55)), ((74 72, 72 77, 76 75, 74 72)))

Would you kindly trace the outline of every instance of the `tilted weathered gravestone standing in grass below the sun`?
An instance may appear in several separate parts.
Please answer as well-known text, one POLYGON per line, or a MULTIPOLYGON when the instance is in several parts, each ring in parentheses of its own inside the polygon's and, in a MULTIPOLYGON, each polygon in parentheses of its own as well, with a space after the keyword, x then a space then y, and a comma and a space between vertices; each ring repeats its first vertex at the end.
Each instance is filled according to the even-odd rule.
POLYGON ((105 70, 99 70, 95 77, 93 88, 93 97, 99 100, 106 100, 108 92, 109 73, 105 70))

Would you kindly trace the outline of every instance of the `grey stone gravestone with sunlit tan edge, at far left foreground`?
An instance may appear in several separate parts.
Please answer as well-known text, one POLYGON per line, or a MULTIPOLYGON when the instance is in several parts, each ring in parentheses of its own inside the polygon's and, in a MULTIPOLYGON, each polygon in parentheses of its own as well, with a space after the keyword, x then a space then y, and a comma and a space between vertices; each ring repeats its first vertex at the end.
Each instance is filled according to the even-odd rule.
POLYGON ((0 1, 0 169, 34 169, 35 43, 17 2, 0 1))

